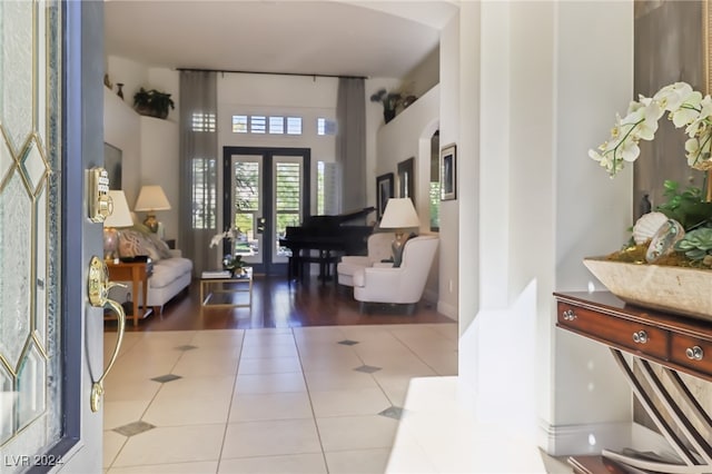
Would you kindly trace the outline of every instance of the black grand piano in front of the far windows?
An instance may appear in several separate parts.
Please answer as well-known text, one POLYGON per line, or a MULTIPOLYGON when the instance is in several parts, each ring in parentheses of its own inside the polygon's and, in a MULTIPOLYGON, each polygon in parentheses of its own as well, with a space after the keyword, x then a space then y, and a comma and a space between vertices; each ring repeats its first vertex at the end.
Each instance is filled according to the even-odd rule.
POLYGON ((301 226, 287 227, 279 245, 291 250, 288 278, 303 279, 305 264, 319 264, 322 283, 333 278, 332 267, 342 255, 365 255, 366 240, 374 231, 373 226, 356 225, 376 210, 365 207, 360 210, 333 216, 309 216, 301 226))

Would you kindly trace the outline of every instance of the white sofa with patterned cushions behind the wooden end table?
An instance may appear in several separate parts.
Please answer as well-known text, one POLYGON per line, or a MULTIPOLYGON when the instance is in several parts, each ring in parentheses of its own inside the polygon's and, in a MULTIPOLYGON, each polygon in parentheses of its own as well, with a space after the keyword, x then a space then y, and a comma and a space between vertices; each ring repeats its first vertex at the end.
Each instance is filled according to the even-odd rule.
MULTIPOLYGON (((155 314, 162 314, 164 305, 182 290, 187 290, 192 278, 192 260, 184 258, 180 250, 169 249, 156 234, 142 225, 135 225, 119 233, 119 256, 135 257, 147 255, 150 257, 154 270, 148 278, 147 303, 139 298, 141 306, 151 306, 155 314)), ((125 300, 119 299, 119 300, 125 300)))

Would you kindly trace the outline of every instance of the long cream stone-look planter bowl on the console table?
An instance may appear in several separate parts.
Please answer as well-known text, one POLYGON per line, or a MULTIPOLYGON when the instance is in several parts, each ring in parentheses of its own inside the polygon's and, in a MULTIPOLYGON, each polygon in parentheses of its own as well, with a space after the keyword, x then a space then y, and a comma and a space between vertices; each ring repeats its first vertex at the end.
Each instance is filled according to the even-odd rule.
POLYGON ((583 263, 625 303, 712 322, 712 270, 604 257, 584 258, 583 263))

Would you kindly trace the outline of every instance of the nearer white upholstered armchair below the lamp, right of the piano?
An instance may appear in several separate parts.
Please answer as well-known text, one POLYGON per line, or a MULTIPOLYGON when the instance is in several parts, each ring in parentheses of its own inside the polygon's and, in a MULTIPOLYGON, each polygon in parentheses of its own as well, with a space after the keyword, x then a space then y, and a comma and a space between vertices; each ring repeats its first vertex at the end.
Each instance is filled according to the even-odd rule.
POLYGON ((399 267, 376 264, 358 270, 354 275, 354 298, 360 302, 362 312, 367 303, 392 303, 407 304, 412 313, 423 297, 437 244, 436 236, 414 237, 405 243, 399 267))

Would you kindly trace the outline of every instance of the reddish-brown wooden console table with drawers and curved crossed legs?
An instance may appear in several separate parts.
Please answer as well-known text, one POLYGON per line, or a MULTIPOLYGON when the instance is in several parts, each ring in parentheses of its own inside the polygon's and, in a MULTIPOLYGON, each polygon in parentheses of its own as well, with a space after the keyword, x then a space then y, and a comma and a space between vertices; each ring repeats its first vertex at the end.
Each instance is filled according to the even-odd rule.
POLYGON ((712 440, 700 433, 685 413, 696 418, 698 426, 703 426, 706 433, 712 433, 712 421, 679 375, 712 381, 712 322, 626 305, 607 292, 554 293, 554 296, 556 326, 611 348, 633 394, 681 460, 664 462, 603 450, 604 460, 590 456, 570 460, 574 471, 615 472, 612 466, 619 463, 661 473, 712 473, 712 440), (632 363, 622 352, 633 356, 632 363), (651 362, 663 367, 663 376, 672 389, 663 384, 651 362))

